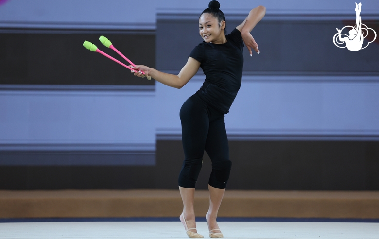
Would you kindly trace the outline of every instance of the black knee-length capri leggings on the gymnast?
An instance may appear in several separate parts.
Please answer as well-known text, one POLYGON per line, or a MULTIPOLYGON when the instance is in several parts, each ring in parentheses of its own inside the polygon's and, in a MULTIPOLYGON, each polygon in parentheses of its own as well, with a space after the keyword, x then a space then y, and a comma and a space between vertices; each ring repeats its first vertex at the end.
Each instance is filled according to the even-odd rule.
POLYGON ((224 113, 209 107, 194 94, 180 109, 180 120, 185 159, 179 174, 179 186, 195 188, 205 150, 212 161, 208 184, 214 188, 226 188, 232 162, 229 160, 224 113))

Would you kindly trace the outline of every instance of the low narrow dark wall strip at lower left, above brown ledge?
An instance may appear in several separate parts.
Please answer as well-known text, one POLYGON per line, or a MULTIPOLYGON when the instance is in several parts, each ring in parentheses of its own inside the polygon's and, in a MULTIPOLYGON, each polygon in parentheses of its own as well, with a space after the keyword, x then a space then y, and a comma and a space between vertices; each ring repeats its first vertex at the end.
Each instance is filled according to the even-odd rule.
POLYGON ((1 166, 0 189, 154 188, 154 173, 150 166, 1 166))

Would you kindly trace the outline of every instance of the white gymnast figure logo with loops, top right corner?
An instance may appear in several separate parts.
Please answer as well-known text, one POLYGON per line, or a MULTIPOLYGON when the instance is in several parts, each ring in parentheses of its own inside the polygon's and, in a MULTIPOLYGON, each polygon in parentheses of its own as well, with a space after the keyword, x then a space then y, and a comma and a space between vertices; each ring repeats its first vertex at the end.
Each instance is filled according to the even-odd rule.
POLYGON ((369 28, 366 25, 364 25, 361 21, 361 15, 360 15, 361 6, 362 6, 361 2, 358 5, 357 3, 355 3, 355 6, 356 6, 355 7, 355 13, 356 13, 355 26, 354 27, 345 26, 341 30, 336 28, 338 33, 336 33, 333 36, 334 45, 336 45, 339 48, 347 47, 347 49, 350 51, 359 51, 359 50, 365 49, 371 42, 375 41, 375 39, 377 38, 377 33, 372 28, 369 28), (351 28, 351 30, 349 31, 349 35, 341 34, 342 30, 344 30, 345 28, 351 28), (374 39, 370 41, 369 43, 367 43, 367 45, 362 48, 364 38, 366 38, 368 34, 370 33, 369 30, 371 30, 374 33, 374 39), (347 37, 341 37, 341 35, 347 36, 347 37), (338 46, 338 45, 344 44, 344 42, 346 43, 345 46, 343 47, 338 46))

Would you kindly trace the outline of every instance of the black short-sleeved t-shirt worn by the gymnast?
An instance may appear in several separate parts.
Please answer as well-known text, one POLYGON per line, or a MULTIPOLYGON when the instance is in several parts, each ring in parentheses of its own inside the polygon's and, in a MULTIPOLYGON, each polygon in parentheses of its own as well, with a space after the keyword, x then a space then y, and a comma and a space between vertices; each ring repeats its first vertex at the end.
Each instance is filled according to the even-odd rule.
POLYGON ((241 87, 244 46, 237 28, 226 35, 226 40, 224 44, 203 41, 189 55, 201 63, 206 75, 203 86, 196 93, 224 114, 229 112, 241 87))

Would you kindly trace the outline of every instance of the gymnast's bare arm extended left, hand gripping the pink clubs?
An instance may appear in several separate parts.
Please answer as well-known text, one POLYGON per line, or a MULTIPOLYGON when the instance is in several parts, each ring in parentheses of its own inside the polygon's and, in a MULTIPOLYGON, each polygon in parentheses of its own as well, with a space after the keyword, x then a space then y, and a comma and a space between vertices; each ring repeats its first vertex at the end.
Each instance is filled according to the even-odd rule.
POLYGON ((136 65, 135 68, 137 69, 136 72, 134 72, 135 76, 142 77, 142 74, 139 72, 139 70, 142 70, 146 73, 146 75, 151 76, 156 81, 164 85, 180 89, 197 73, 200 68, 200 62, 192 57, 189 57, 186 65, 180 70, 178 75, 164 73, 144 65, 136 65))

